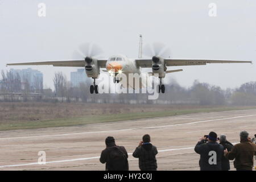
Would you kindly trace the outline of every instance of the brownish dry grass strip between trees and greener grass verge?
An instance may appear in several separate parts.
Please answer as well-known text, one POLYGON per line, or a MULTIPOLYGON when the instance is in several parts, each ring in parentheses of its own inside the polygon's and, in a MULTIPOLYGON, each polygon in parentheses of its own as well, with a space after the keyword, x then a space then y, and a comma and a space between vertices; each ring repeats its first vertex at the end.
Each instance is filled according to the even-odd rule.
MULTIPOLYGON (((199 109, 189 105, 126 105, 47 102, 0 102, 0 123, 79 118, 88 115, 138 113, 179 109, 199 109)), ((210 106, 208 106, 210 108, 210 106)))

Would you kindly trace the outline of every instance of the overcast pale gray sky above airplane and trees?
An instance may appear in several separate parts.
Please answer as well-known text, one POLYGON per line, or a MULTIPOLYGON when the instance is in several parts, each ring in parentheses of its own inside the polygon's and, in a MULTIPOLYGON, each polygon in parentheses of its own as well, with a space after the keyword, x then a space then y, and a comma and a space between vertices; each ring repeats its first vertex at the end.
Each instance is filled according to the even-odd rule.
MULTIPOLYGON (((256 60, 256 1, 0 0, 0 69, 27 68, 6 68, 6 63, 72 59, 87 42, 98 44, 106 57, 136 58, 139 34, 144 44, 166 44, 173 58, 256 60), (39 3, 46 4, 46 17, 38 16, 39 3), (210 3, 217 5, 216 17, 208 14, 210 3)), ((51 88, 54 72, 63 71, 69 79, 77 69, 31 68, 42 71, 44 86, 51 88)), ((256 81, 256 61, 169 69, 180 68, 184 71, 170 77, 187 87, 194 80, 221 88, 256 81)))

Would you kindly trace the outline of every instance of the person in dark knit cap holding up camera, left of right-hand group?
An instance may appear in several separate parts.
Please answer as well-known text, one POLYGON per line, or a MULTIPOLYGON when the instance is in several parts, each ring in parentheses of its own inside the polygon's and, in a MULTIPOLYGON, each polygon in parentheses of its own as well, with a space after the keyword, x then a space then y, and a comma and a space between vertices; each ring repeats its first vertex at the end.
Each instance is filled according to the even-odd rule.
POLYGON ((217 134, 211 131, 207 137, 202 137, 196 144, 195 152, 200 154, 201 171, 220 171, 224 147, 217 142, 217 134))

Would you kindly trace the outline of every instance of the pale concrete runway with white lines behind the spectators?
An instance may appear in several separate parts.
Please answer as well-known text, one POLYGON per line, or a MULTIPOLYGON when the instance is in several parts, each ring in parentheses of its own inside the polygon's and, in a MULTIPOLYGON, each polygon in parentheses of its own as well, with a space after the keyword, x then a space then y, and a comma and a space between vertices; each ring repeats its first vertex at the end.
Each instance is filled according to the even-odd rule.
POLYGON ((240 131, 253 136, 255 128, 256 109, 250 109, 1 131, 0 170, 104 170, 99 156, 108 136, 129 152, 130 170, 139 170, 138 159, 131 154, 144 134, 150 134, 158 148, 158 170, 199 170, 199 155, 193 148, 201 136, 215 131, 237 143, 240 131), (46 164, 38 164, 39 151, 46 152, 46 164))

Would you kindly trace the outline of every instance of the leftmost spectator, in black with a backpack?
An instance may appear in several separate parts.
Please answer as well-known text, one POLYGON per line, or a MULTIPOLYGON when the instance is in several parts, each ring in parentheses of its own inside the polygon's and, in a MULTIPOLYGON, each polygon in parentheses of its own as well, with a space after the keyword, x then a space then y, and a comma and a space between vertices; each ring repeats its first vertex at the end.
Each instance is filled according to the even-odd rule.
POLYGON ((128 154, 123 146, 115 144, 114 137, 107 137, 106 148, 101 152, 100 162, 106 163, 106 171, 128 171, 128 154))

